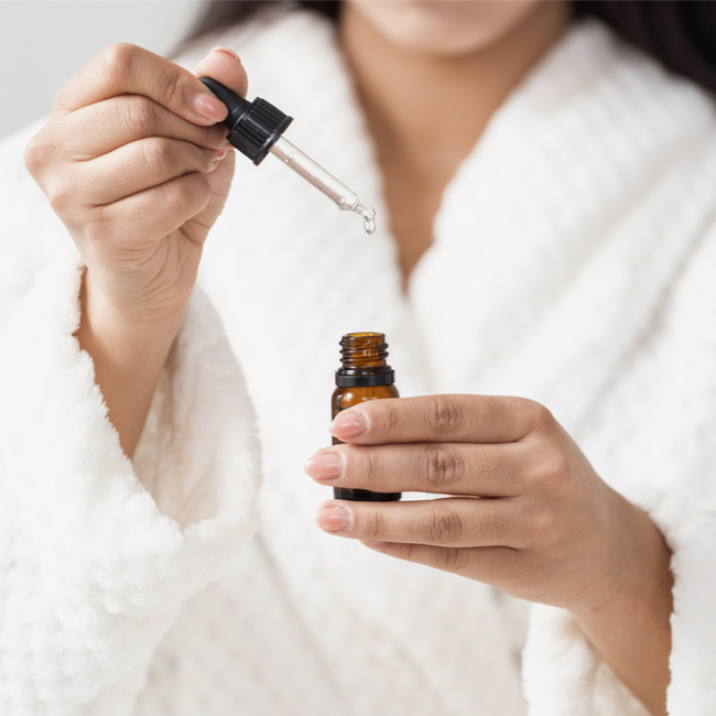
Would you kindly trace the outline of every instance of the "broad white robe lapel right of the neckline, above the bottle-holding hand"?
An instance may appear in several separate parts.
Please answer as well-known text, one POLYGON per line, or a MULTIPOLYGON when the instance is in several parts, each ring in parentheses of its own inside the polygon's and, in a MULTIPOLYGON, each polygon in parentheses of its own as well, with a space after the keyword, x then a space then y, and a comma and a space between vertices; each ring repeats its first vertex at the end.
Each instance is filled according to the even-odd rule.
POLYGON ((448 186, 413 276, 440 390, 529 397, 583 431, 691 249, 705 187, 684 170, 712 122, 601 25, 572 30, 448 186))

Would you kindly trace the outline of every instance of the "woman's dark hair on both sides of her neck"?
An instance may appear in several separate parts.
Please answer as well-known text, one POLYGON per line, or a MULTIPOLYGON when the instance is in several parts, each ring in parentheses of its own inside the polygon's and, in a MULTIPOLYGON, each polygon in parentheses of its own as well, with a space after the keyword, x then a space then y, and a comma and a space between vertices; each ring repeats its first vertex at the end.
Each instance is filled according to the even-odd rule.
MULTIPOLYGON (((340 0, 213 0, 181 47, 269 7, 304 8, 332 21, 340 0)), ((575 0, 576 18, 599 18, 619 36, 664 67, 716 93, 716 2, 713 0, 575 0)))

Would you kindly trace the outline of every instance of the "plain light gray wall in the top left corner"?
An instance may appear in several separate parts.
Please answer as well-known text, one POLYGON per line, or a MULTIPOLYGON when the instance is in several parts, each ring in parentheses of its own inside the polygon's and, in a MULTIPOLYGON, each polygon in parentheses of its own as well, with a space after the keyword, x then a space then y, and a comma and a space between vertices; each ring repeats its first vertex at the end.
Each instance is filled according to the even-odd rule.
POLYGON ((52 109, 94 54, 132 42, 166 54, 202 0, 0 0, 0 139, 52 109))

